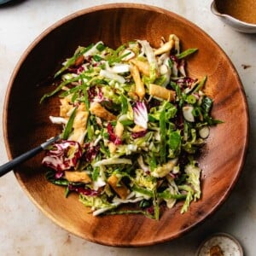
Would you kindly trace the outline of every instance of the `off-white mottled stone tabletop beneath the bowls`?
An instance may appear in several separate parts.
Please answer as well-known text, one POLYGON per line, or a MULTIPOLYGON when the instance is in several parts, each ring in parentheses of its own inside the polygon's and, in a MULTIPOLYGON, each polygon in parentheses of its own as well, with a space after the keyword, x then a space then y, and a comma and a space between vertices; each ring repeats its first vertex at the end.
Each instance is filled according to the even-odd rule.
MULTIPOLYGON (((0 7, 0 110, 11 73, 23 51, 41 32, 73 12, 116 0, 24 0, 0 7)), ((246 164, 228 201, 211 218, 175 241, 152 247, 116 248, 84 241, 62 230, 26 197, 13 172, 0 178, 0 255, 194 255, 206 236, 227 232, 241 241, 247 256, 256 255, 256 34, 225 26, 210 11, 211 0, 125 0, 172 10, 206 31, 230 56, 245 88, 251 119, 246 164), (245 68, 245 66, 247 68, 245 68)), ((239 114, 237 115, 239 118, 239 114)), ((0 164, 7 161, 0 128, 0 164)))

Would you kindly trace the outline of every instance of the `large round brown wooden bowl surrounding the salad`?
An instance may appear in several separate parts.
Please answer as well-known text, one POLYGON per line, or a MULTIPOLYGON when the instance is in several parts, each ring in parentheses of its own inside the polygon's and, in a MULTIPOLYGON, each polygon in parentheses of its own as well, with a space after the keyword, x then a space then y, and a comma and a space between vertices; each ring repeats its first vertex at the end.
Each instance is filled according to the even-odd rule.
MULTIPOLYGON (((62 228, 86 240, 119 246, 152 245, 183 236, 210 216, 228 197, 241 172, 248 141, 247 102, 241 81, 224 51, 189 20, 165 9, 142 4, 114 3, 81 10, 43 32, 22 55, 9 82, 3 129, 9 159, 37 146, 60 130, 49 122, 59 112, 55 98, 39 104, 50 90, 47 78, 73 55, 78 45, 102 40, 113 48, 132 39, 159 46, 160 37, 177 34, 183 49, 198 48, 189 58, 189 75, 207 74, 207 94, 214 99, 212 115, 224 124, 211 129, 200 159, 202 197, 189 212, 181 204, 166 210, 160 221, 138 215, 92 217, 77 195, 48 183, 39 154, 15 169, 20 186, 31 200, 62 228)), ((20 212, 21 213, 21 212, 20 212)))

